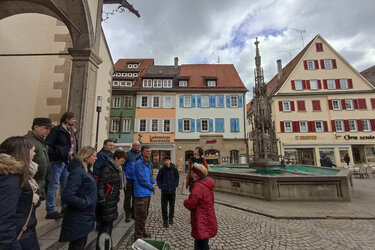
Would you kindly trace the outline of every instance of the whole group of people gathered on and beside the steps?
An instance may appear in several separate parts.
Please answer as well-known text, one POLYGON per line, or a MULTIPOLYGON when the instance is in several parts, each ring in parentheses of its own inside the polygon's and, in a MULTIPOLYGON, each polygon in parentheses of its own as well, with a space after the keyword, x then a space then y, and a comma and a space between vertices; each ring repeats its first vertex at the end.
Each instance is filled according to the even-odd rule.
MULTIPOLYGON (((25 136, 0 144, 0 250, 39 249, 35 210, 43 200, 47 219, 63 218, 59 241, 69 242, 69 250, 84 249, 95 223, 97 239, 104 232, 111 235, 121 190, 125 221, 135 219, 134 240, 151 236, 145 225, 156 186, 161 189, 163 226, 173 224, 179 174, 171 159, 164 158, 155 180, 149 146, 136 141, 130 151, 112 153, 114 141, 107 139, 98 153, 91 146, 79 149, 75 123, 72 112, 64 113, 58 126, 35 118, 25 136), (60 212, 55 206, 59 187, 60 212)), ((203 150, 194 152, 187 175, 191 194, 184 206, 191 211, 195 249, 209 249, 208 239, 217 233, 214 182, 207 177, 203 150)))

